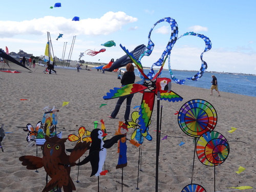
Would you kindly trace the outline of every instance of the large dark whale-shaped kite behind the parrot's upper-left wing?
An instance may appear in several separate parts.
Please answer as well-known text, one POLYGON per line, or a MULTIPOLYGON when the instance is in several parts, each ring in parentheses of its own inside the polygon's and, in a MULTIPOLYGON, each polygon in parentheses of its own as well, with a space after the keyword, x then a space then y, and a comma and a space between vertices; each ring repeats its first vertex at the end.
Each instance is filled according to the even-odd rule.
MULTIPOLYGON (((145 49, 146 49, 145 45, 139 45, 133 51, 131 51, 131 53, 134 55, 136 60, 138 60, 140 55, 144 52, 145 49)), ((117 59, 109 69, 105 69, 105 71, 112 72, 115 69, 126 66, 130 62, 133 62, 132 59, 130 57, 127 57, 127 55, 125 54, 119 59, 117 59)))

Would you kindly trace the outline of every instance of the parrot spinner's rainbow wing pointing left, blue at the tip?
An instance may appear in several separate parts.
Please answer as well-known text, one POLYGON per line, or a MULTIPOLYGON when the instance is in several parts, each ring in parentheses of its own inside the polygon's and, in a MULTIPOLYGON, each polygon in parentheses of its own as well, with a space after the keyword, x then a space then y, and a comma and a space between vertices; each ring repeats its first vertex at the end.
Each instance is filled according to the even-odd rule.
POLYGON ((126 86, 123 86, 121 88, 114 88, 113 90, 110 90, 109 93, 106 93, 106 96, 103 96, 103 99, 114 99, 133 93, 138 93, 145 89, 147 89, 147 87, 142 86, 142 84, 127 84, 126 86))

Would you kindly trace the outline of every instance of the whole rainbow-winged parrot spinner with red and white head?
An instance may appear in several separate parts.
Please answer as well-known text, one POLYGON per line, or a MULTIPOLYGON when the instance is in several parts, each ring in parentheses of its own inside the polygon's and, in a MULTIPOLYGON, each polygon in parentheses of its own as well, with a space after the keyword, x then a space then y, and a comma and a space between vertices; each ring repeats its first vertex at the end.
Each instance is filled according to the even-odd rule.
MULTIPOLYGON (((141 63, 137 61, 134 58, 134 56, 124 47, 122 47, 122 49, 133 60, 136 67, 138 68, 140 73, 143 75, 144 79, 142 81, 139 81, 133 84, 127 84, 126 86, 121 88, 114 88, 114 90, 110 90, 110 92, 107 93, 106 96, 103 96, 103 99, 113 99, 113 98, 122 97, 124 95, 130 95, 130 94, 142 92, 143 97, 142 97, 141 105, 139 108, 139 117, 138 117, 138 120, 139 120, 138 124, 140 125, 140 130, 137 131, 136 134, 140 136, 142 135, 143 137, 148 139, 147 137, 147 135, 149 134, 148 125, 150 124, 150 121, 151 121, 151 116, 152 116, 154 103, 155 103, 155 96, 158 93, 160 93, 160 100, 168 100, 172 102, 182 101, 183 98, 180 95, 170 90, 171 80, 169 78, 158 78, 163 69, 167 56, 165 57, 163 61, 163 65, 159 69, 157 74, 152 79, 150 79, 144 74, 141 63)), ((140 144, 142 144, 143 140, 137 139, 137 138, 140 138, 140 136, 136 136, 135 138, 140 144)))

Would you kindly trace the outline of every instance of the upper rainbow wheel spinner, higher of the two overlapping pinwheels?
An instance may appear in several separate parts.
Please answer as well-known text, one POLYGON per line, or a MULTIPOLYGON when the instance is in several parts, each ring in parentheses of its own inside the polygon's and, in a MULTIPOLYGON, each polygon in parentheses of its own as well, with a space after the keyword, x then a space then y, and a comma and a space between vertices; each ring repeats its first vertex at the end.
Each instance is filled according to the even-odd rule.
POLYGON ((217 112, 208 101, 192 99, 181 106, 178 123, 188 136, 200 137, 205 132, 215 129, 217 112))

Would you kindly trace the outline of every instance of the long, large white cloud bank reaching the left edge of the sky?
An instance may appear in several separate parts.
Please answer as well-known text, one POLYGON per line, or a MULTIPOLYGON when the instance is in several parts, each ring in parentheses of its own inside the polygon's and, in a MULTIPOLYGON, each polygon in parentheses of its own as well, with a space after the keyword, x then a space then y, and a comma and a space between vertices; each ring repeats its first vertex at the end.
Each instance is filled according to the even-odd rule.
POLYGON ((108 35, 122 28, 123 25, 137 22, 136 17, 124 12, 107 12, 100 18, 81 19, 72 21, 65 17, 45 16, 42 18, 24 20, 22 22, 0 21, 0 36, 42 35, 50 31, 52 34, 84 34, 108 35))

